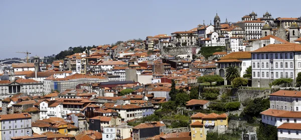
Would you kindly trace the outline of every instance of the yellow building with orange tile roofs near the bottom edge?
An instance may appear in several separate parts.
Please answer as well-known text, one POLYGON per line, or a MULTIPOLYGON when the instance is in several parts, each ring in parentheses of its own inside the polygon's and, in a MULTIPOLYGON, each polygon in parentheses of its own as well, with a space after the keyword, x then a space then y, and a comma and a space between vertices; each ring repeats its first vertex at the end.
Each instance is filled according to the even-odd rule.
POLYGON ((205 140, 207 131, 224 132, 228 128, 228 115, 226 113, 204 114, 196 113, 191 116, 191 139, 205 140))

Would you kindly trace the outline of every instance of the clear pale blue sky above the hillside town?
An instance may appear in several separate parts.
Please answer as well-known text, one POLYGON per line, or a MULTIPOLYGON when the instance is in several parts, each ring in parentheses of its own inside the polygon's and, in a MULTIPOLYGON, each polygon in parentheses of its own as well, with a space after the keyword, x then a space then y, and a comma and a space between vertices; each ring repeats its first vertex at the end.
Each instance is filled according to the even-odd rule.
POLYGON ((72 46, 145 39, 210 24, 216 12, 237 22, 254 10, 299 17, 301 0, 0 0, 0 59, 57 54, 72 46))

